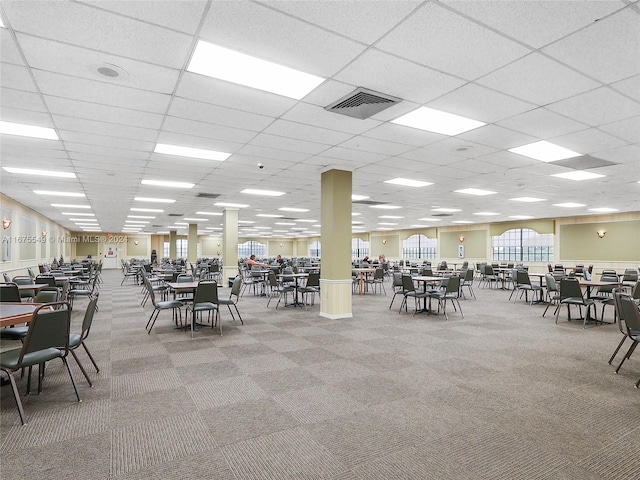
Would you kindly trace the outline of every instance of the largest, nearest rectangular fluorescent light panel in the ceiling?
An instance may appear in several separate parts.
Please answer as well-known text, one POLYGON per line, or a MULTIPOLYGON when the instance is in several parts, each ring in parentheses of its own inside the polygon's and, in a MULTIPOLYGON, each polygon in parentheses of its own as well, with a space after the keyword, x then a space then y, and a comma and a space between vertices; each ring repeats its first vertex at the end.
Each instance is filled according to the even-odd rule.
POLYGON ((200 40, 187 70, 300 100, 324 78, 200 40))

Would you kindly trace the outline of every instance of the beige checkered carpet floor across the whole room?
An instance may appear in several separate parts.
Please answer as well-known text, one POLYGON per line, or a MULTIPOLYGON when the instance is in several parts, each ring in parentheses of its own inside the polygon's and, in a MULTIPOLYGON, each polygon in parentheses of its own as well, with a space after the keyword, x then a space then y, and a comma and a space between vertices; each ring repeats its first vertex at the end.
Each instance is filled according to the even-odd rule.
POLYGON ((147 335, 140 287, 103 276, 83 402, 61 362, 23 396, 26 426, 1 389, 3 480, 640 478, 640 356, 614 374, 617 325, 555 325, 476 284, 449 321, 391 295, 334 321, 247 293, 244 325, 224 309, 222 337, 192 340, 170 312, 147 335))

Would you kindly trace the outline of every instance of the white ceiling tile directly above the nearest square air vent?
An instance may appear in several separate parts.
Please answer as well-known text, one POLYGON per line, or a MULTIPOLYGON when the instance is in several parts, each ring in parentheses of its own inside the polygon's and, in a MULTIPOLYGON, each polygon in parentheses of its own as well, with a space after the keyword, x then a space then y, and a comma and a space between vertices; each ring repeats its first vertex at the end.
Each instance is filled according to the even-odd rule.
POLYGON ((376 49, 363 53, 335 78, 417 103, 428 102, 464 84, 463 80, 376 49))

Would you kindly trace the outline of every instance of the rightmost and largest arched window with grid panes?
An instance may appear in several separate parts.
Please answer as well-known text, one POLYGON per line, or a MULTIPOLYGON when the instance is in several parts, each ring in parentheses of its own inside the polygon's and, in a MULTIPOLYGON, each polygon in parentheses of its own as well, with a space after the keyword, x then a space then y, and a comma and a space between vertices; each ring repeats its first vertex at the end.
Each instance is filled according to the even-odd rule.
POLYGON ((513 262, 552 262, 553 234, 530 228, 513 228, 491 237, 493 260, 513 262))

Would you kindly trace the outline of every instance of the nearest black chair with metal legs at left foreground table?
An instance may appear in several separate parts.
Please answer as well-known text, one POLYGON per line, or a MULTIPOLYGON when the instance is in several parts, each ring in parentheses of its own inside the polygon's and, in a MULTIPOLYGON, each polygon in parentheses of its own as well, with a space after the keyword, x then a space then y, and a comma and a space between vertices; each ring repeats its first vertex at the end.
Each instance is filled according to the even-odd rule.
POLYGON ((38 368, 38 393, 42 392, 42 378, 44 364, 56 358, 64 363, 71 378, 73 389, 78 402, 81 402, 76 382, 67 362, 69 354, 69 329, 71 327, 71 310, 67 302, 42 305, 33 312, 33 318, 29 323, 29 330, 22 344, 22 348, 8 350, 0 353, 0 370, 7 374, 11 382, 13 396, 18 406, 18 413, 23 425, 26 425, 26 417, 22 407, 22 401, 18 393, 13 373, 23 368, 29 369, 27 378, 27 394, 31 390, 31 370, 34 365, 38 368))

